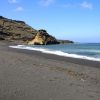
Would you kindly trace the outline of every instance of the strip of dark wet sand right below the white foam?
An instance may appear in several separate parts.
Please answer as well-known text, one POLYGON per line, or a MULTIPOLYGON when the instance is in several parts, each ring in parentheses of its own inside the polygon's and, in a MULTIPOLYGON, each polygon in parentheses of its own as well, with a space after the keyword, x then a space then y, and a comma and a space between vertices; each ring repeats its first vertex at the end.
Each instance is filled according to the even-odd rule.
POLYGON ((100 61, 93 61, 93 60, 88 60, 88 59, 81 59, 81 58, 73 58, 73 57, 64 57, 64 56, 59 56, 55 54, 49 54, 49 53, 43 53, 41 51, 35 51, 35 50, 27 50, 27 49, 18 49, 18 48, 10 48, 11 51, 15 52, 20 52, 20 53, 25 53, 29 54, 31 56, 39 56, 39 57, 44 57, 47 59, 53 59, 53 60, 58 60, 58 61, 65 61, 65 62, 70 62, 70 63, 75 63, 75 64, 80 64, 80 65, 86 65, 90 67, 96 67, 100 68, 100 61))

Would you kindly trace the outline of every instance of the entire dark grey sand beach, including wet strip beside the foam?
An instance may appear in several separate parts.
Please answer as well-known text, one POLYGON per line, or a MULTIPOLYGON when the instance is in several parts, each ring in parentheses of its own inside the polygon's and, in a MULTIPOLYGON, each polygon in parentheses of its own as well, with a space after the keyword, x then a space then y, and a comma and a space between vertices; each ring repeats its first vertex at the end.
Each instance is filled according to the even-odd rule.
POLYGON ((0 100, 100 100, 100 62, 0 43, 0 100))

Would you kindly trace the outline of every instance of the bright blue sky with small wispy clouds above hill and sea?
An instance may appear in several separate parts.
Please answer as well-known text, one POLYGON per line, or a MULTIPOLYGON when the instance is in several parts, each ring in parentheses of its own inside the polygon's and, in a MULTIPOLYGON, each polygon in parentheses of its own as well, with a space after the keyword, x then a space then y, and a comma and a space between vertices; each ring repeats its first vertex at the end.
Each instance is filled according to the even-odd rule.
POLYGON ((57 39, 100 43, 100 0, 0 0, 0 16, 57 39))

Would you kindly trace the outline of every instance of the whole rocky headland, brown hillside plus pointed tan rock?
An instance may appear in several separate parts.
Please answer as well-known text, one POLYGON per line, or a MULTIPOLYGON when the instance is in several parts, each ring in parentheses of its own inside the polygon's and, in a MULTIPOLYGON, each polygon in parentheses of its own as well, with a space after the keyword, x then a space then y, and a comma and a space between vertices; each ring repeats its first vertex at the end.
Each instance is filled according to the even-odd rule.
MULTIPOLYGON (((23 42, 34 45, 59 44, 46 30, 36 30, 23 21, 0 16, 0 40, 23 42)), ((69 41, 68 41, 69 43, 69 41)))

